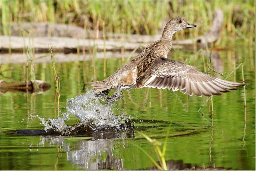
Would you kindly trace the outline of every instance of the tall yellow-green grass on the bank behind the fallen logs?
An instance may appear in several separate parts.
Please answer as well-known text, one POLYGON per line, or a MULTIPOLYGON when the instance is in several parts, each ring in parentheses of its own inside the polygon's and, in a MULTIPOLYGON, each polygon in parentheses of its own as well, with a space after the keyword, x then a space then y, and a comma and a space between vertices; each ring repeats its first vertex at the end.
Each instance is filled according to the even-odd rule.
MULTIPOLYGON (((54 22, 75 24, 99 30, 105 23, 106 32, 155 34, 164 19, 182 16, 198 26, 180 32, 197 36, 205 32, 213 17, 214 8, 224 12, 223 34, 248 40, 254 35, 254 1, 1 1, 2 34, 10 34, 11 22, 54 22), (111 10, 110 10, 111 9, 111 10), (191 31, 191 32, 190 32, 191 31)), ((228 38, 228 37, 225 37, 228 38)))

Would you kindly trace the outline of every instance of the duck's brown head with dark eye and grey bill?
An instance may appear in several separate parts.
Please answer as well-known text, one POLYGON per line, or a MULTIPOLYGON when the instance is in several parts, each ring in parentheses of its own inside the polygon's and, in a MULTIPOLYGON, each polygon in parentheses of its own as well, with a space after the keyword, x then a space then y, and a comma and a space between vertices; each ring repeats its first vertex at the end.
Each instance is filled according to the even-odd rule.
POLYGON ((183 18, 176 17, 176 18, 170 19, 163 30, 162 38, 171 39, 175 32, 181 31, 185 28, 193 28, 193 27, 196 27, 196 25, 187 23, 186 20, 184 20, 183 18))

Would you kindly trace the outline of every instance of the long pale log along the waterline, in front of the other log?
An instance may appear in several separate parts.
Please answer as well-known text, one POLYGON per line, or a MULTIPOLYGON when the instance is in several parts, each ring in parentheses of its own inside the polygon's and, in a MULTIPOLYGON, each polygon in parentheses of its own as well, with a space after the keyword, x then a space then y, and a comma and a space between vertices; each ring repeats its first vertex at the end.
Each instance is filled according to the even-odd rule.
MULTIPOLYGON (((97 50, 97 52, 113 51, 121 52, 122 49, 125 51, 133 51, 139 47, 146 47, 148 43, 128 43, 120 42, 117 40, 106 40, 105 46, 103 40, 93 40, 93 39, 76 39, 68 37, 17 37, 17 36, 1 36, 1 52, 8 53, 9 49, 11 52, 25 52, 24 50, 28 46, 29 48, 34 48, 36 53, 47 53, 49 48, 52 46, 54 52, 77 52, 77 49, 82 50, 83 48, 86 52, 97 50)), ((173 45, 173 48, 181 49, 181 45, 173 45)))

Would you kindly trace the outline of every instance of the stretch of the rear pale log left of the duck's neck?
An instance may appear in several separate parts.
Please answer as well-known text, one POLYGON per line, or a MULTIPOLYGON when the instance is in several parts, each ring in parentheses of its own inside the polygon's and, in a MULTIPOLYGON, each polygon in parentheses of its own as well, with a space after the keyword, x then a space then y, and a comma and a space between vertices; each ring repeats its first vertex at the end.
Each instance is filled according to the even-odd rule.
MULTIPOLYGON (((11 36, 33 36, 33 37, 70 37, 79 39, 97 39, 96 30, 87 30, 74 25, 23 22, 11 23, 11 36)), ((103 32, 98 32, 98 39, 103 39, 103 32)), ((105 32, 107 40, 122 39, 128 42, 150 43, 160 38, 160 35, 128 35, 120 33, 105 32)))

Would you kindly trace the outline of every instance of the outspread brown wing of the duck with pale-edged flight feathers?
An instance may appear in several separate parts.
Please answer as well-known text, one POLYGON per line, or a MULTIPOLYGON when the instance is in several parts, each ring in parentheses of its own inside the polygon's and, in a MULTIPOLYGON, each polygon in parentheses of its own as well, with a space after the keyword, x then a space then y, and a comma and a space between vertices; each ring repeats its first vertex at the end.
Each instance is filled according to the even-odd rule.
POLYGON ((154 60, 146 72, 137 80, 136 87, 152 87, 158 89, 180 90, 184 94, 192 96, 221 95, 221 92, 229 92, 234 87, 245 84, 230 82, 214 78, 199 72, 195 67, 159 57, 154 60))

